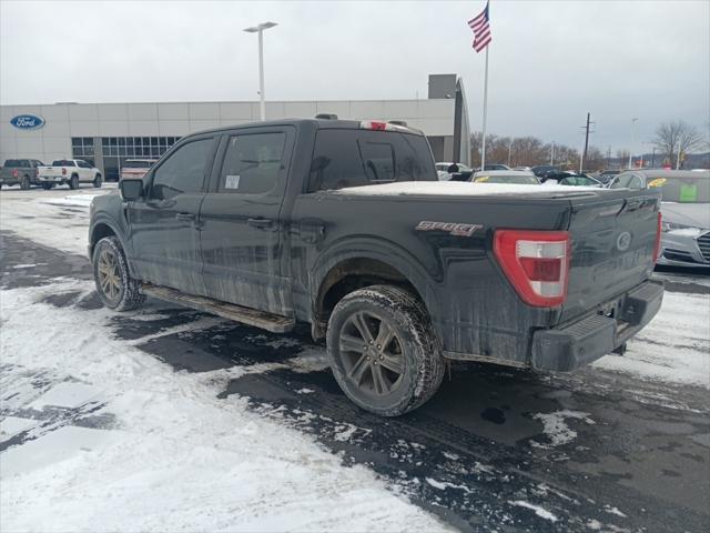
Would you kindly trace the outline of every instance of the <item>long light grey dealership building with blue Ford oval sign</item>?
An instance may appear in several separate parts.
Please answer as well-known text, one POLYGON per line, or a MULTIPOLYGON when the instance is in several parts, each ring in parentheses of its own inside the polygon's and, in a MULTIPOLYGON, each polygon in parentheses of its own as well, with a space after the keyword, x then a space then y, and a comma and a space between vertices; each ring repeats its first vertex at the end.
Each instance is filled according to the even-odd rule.
MULTIPOLYGON (((266 120, 336 114, 396 120, 427 135, 437 161, 468 163, 470 135, 463 83, 429 76, 420 100, 266 102, 266 120)), ((258 102, 151 102, 0 105, 0 163, 7 159, 84 159, 116 179, 129 159, 158 159, 183 135, 257 121, 258 102)))

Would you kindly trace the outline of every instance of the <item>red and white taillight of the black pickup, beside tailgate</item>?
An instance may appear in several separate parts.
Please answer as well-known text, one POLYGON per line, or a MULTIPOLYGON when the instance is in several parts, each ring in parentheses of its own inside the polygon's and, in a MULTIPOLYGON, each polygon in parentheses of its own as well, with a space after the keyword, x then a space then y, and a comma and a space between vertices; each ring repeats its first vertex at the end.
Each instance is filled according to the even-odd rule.
POLYGON ((571 255, 567 231, 498 230, 493 250, 524 302, 536 308, 565 302, 571 255))

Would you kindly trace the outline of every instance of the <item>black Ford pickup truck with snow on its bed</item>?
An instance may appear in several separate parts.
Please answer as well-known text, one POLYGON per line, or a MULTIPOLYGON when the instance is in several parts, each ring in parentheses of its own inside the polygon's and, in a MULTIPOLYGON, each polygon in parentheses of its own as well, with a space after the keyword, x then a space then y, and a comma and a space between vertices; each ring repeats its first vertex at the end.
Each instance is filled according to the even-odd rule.
POLYGON ((91 207, 102 301, 311 324, 357 405, 427 401, 447 360, 569 371, 657 313, 659 194, 439 182, 424 134, 288 120, 195 133, 91 207))

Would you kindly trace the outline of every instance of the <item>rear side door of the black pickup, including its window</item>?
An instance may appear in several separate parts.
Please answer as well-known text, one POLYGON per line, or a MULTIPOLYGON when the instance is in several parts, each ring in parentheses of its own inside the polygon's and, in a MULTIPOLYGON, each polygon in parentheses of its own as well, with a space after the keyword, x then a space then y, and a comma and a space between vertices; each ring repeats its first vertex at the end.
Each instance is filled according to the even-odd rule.
POLYGON ((204 281, 217 300, 292 314, 282 276, 280 212, 295 129, 248 128, 224 135, 200 210, 204 281))

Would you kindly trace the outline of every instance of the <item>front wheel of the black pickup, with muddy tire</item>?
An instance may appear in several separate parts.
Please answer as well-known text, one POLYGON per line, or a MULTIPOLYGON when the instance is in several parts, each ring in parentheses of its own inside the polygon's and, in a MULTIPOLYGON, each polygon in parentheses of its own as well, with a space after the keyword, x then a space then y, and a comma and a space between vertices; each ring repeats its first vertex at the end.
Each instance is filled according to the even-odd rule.
POLYGON ((104 237, 97 243, 92 266, 97 292, 106 308, 130 311, 143 304, 141 283, 129 275, 125 254, 115 237, 104 237))

